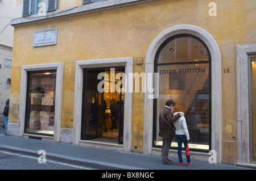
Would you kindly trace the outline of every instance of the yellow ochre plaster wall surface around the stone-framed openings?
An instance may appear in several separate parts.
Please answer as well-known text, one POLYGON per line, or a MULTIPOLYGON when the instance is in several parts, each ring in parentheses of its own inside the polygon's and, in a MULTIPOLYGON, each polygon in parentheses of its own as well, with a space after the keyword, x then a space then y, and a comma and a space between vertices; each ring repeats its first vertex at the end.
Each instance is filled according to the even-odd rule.
MULTIPOLYGON (((77 5, 75 2, 58 1, 57 7, 77 5)), ((210 2, 212 1, 159 0, 15 27, 10 122, 18 123, 22 65, 64 62, 61 127, 72 128, 75 61, 134 57, 134 72, 141 73, 144 72, 147 50, 159 33, 178 24, 192 24, 214 37, 221 50, 222 69, 229 69, 229 73, 222 70, 222 131, 225 132, 225 124, 230 124, 230 135, 236 136, 236 44, 256 41, 256 2, 215 0, 217 16, 209 16, 210 2), (56 45, 32 46, 34 31, 56 27, 56 45), (142 65, 136 64, 136 57, 143 57, 142 65)), ((132 109, 131 149, 142 153, 143 93, 133 94, 132 109)), ((222 140, 223 162, 236 162, 236 140, 226 134, 222 134, 222 140)))

